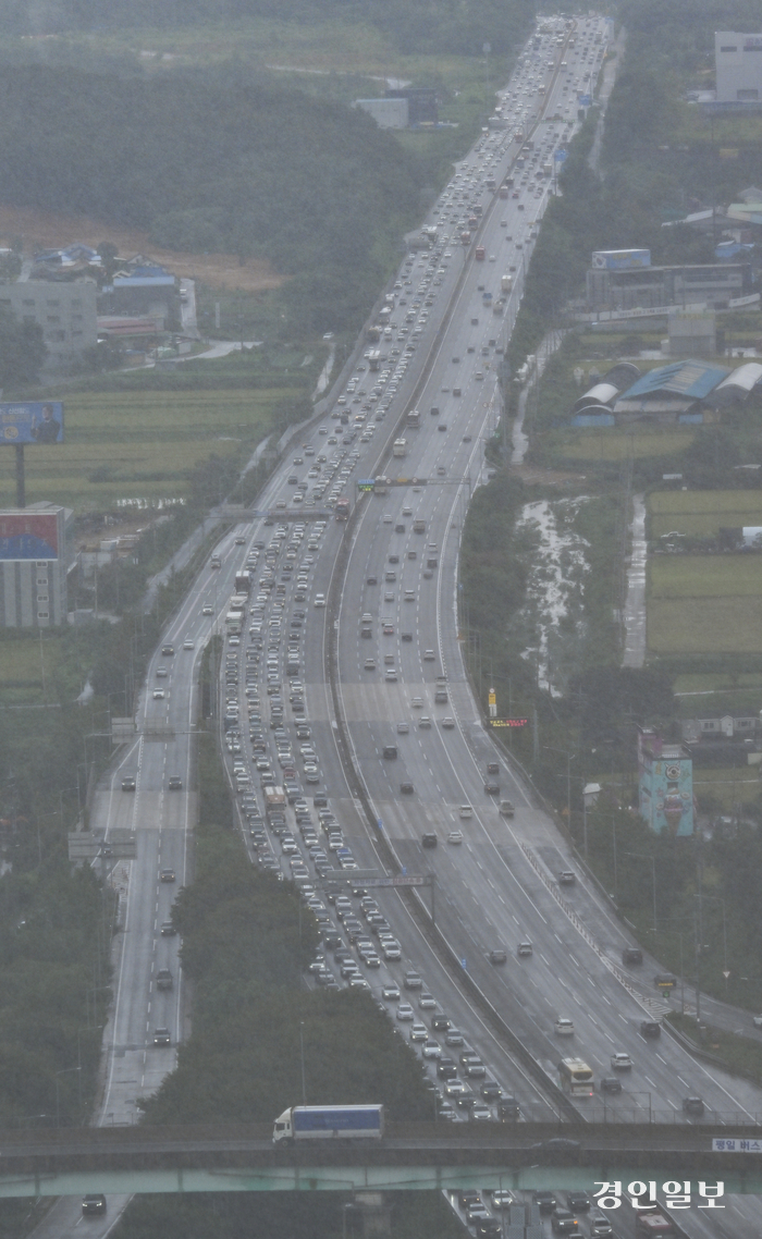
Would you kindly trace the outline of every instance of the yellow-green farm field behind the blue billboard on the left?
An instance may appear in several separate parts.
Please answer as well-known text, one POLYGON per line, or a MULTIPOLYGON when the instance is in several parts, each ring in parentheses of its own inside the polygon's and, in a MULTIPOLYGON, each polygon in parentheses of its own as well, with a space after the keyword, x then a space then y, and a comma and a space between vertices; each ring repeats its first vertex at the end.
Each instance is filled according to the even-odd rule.
MULTIPOLYGON (((273 429, 276 406, 300 390, 73 393, 64 399, 66 442, 26 451, 26 502, 82 513, 125 498, 185 498, 197 463, 253 449, 273 429)), ((14 503, 15 460, 7 452, 0 461, 0 502, 14 503)))

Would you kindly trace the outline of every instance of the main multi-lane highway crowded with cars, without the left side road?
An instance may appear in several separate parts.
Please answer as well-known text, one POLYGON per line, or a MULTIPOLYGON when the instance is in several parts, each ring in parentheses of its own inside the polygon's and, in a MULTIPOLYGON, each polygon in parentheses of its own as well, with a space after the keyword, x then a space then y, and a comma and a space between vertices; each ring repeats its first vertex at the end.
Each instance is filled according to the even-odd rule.
MULTIPOLYGON (((626 1121, 657 1110, 751 1121, 758 1106, 753 1085, 734 1082, 731 1094, 660 1036, 667 1004, 641 979, 642 952, 486 735, 458 644, 460 530, 487 479, 497 368, 608 33, 598 17, 539 25, 497 126, 457 167, 325 411, 258 501, 266 514, 221 540, 176 626, 187 649, 224 636, 230 787, 252 861, 295 882, 315 916, 321 948, 305 983, 368 992, 420 1056, 447 1123, 548 1119, 559 1099, 626 1121), (374 885, 389 872, 432 876, 441 942, 520 1049, 487 1026, 398 893, 374 885)), ((187 709, 176 667, 157 655, 151 709, 187 709)), ((162 771, 164 788, 187 792, 166 760, 162 771)), ((140 781, 130 773, 123 787, 140 781)), ((463 1192, 452 1203, 480 1235, 519 1214, 553 1233, 632 1233, 584 1196, 463 1192)), ((675 1233, 655 1206, 636 1218, 638 1234, 675 1233)))

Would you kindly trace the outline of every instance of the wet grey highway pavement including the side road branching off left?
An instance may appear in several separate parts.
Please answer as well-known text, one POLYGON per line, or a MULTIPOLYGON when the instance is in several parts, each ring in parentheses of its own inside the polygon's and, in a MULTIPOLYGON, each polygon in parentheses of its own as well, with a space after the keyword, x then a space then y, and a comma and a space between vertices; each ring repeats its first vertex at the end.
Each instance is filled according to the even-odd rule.
MULTIPOLYGON (((389 285, 393 305, 380 341, 369 344, 384 358, 378 373, 361 362, 346 388, 331 394, 330 413, 304 429, 304 441, 296 441, 258 499, 258 509, 271 509, 273 517, 242 523, 221 540, 221 566, 202 570, 164 636, 162 646, 171 646, 172 653, 160 649, 151 662, 136 737, 98 788, 94 830, 105 839, 115 829, 138 836, 138 859, 119 861, 112 875, 121 893, 123 932, 115 1001, 104 1030, 103 1125, 136 1121, 139 1099, 172 1069, 177 1043, 188 1033, 178 939, 162 934, 161 927, 176 891, 192 880, 198 660, 209 636, 226 631, 234 576, 243 567, 254 585, 243 631, 228 634, 221 670, 226 755, 242 829, 253 862, 294 877, 326 932, 341 930, 342 945, 357 964, 352 971, 344 961, 347 975, 341 978, 342 961, 331 960, 326 950, 306 983, 368 987, 387 1005, 401 1036, 421 1023, 431 1043, 431 1007, 420 1005, 420 990, 404 987, 405 970, 418 970, 435 1014, 445 1014, 460 1030, 465 1048, 478 1056, 503 1095, 518 1099, 524 1119, 551 1119, 558 1109, 553 1089, 543 1088, 528 1069, 528 1057, 556 1084, 559 1058, 582 1057, 592 1068, 596 1097, 575 1101, 582 1116, 593 1119, 602 1114, 598 1083, 612 1074, 615 1052, 628 1053, 633 1066, 618 1073, 622 1093, 605 1098, 610 1118, 647 1121, 664 1115, 691 1123, 683 1101, 694 1094, 715 1125, 743 1116, 752 1121, 762 1113, 752 1085, 699 1064, 665 1033, 649 1041, 641 1036, 641 1021, 659 1014, 657 995, 636 970, 622 984, 627 939, 584 875, 576 875, 574 886, 559 886, 559 873, 574 867, 565 844, 532 789, 493 750, 465 678, 456 615, 462 522, 473 488, 486 481, 483 440, 499 414, 496 370, 553 188, 555 155, 563 155, 574 133, 577 94, 591 89, 607 31, 602 19, 580 19, 571 31, 563 22, 550 26, 536 47, 533 41, 525 50, 501 93, 506 128, 480 139, 425 221, 436 227, 431 250, 409 254, 389 285), (522 150, 527 144, 532 149, 522 150), (498 195, 506 177, 513 180, 507 198, 498 195), (487 187, 491 178, 494 190, 487 187), (461 232, 473 230, 472 218, 478 233, 462 245, 461 232), (477 244, 484 247, 483 261, 476 260, 477 244), (503 312, 496 315, 493 306, 503 295, 503 312), (405 456, 392 457, 398 422, 413 399, 420 427, 401 430, 405 456), (348 524, 318 518, 321 510, 335 509, 339 496, 354 506, 357 479, 383 473, 430 484, 362 496, 348 524), (282 524, 279 513, 287 517, 282 524), (424 533, 413 530, 415 519, 425 522, 424 533), (436 567, 429 569, 429 560, 436 560, 436 567), (366 613, 372 617, 370 638, 362 636, 366 613), (326 681, 330 639, 336 643, 338 720, 326 681), (286 676, 289 654, 296 674, 286 676), (440 675, 446 676, 447 700, 437 704, 440 675), (444 726, 446 717, 452 726, 444 726), (423 719, 431 726, 421 726, 423 719), (337 745, 339 729, 352 753, 351 774, 337 745), (302 752, 301 745, 310 751, 302 752), (383 756, 389 745, 396 746, 395 758, 383 756), (493 761, 499 763, 499 795, 484 792, 487 762, 493 761), (135 781, 135 790, 123 790, 125 779, 135 781), (181 786, 171 789, 171 779, 181 786), (295 789, 282 828, 275 819, 264 820, 265 781, 289 782, 295 789), (358 784, 380 826, 368 821, 358 784), (403 784, 413 790, 403 790, 403 784), (323 792, 332 819, 321 823, 307 798, 323 792), (498 813, 501 798, 515 805, 512 819, 498 813), (449 843, 457 830, 462 841, 449 843), (436 834, 437 846, 424 851, 425 831, 436 834), (401 871, 435 875, 440 943, 434 949, 421 935, 410 904, 396 893, 374 891, 375 908, 399 944, 394 960, 378 937, 377 964, 369 961, 369 948, 361 950, 358 932, 347 929, 346 919, 339 926, 322 883, 338 861, 346 876, 358 872, 362 888, 363 875, 387 872, 389 855, 401 871), (173 878, 162 880, 162 870, 173 878), (524 939, 533 944, 529 958, 517 955, 524 939), (498 947, 507 958, 494 965, 488 953, 498 947), (447 953, 523 1051, 517 1053, 496 1032, 457 984, 457 966, 446 965, 447 953), (169 990, 156 985, 160 969, 171 973, 169 990), (395 984, 396 997, 382 996, 384 986, 395 984), (403 1020, 408 997, 413 1014, 403 1020), (559 1017, 574 1021, 572 1037, 556 1035, 559 1017), (154 1043, 156 1030, 167 1030, 159 1040, 169 1044, 154 1043)), ((358 898, 352 900, 353 916, 366 928, 358 898)), ((440 1054, 450 1052, 442 1043, 437 1048, 440 1054)), ((463 1047, 451 1049, 457 1059, 463 1047)), ((437 1078, 431 1053, 425 1062, 432 1105, 456 1124, 472 1111, 476 1116, 483 1077, 475 1072, 461 1082, 470 1103, 465 1105, 451 1082, 437 1078), (435 1088, 445 1095, 437 1098, 435 1088)), ((465 1075, 465 1064, 457 1070, 465 1075)), ((493 1100, 484 1109, 482 1118, 496 1116, 493 1100)), ((737 1215, 737 1239, 762 1229, 762 1212, 755 1214, 750 1202, 745 1206, 751 1220, 737 1215)), ((703 1230, 705 1220, 695 1211, 680 1219, 690 1234, 722 1233, 703 1230)), ((100 1239, 110 1224, 99 1219, 88 1228, 100 1239)), ((69 1234, 67 1227, 57 1233, 69 1234)))

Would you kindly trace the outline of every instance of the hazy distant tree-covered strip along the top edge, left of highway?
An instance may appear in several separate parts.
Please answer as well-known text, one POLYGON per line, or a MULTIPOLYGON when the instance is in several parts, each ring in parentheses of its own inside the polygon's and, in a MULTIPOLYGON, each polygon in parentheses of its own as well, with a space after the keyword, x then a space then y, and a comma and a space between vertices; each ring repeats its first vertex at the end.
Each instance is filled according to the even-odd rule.
POLYGON ((529 30, 535 0, 4 0, 0 31, 17 35, 109 27, 187 26, 266 17, 377 26, 405 53, 509 52, 529 30))

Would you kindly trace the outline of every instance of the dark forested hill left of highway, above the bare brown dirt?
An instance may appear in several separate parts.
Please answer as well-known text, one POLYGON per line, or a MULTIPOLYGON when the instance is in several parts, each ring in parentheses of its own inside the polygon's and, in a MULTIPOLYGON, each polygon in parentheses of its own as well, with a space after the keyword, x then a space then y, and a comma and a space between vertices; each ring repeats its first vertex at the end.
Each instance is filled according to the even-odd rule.
POLYGON ((264 255, 299 273, 307 300, 331 285, 343 321, 323 330, 367 306, 421 177, 364 113, 243 76, 0 76, 4 202, 147 228, 171 249, 264 255))

